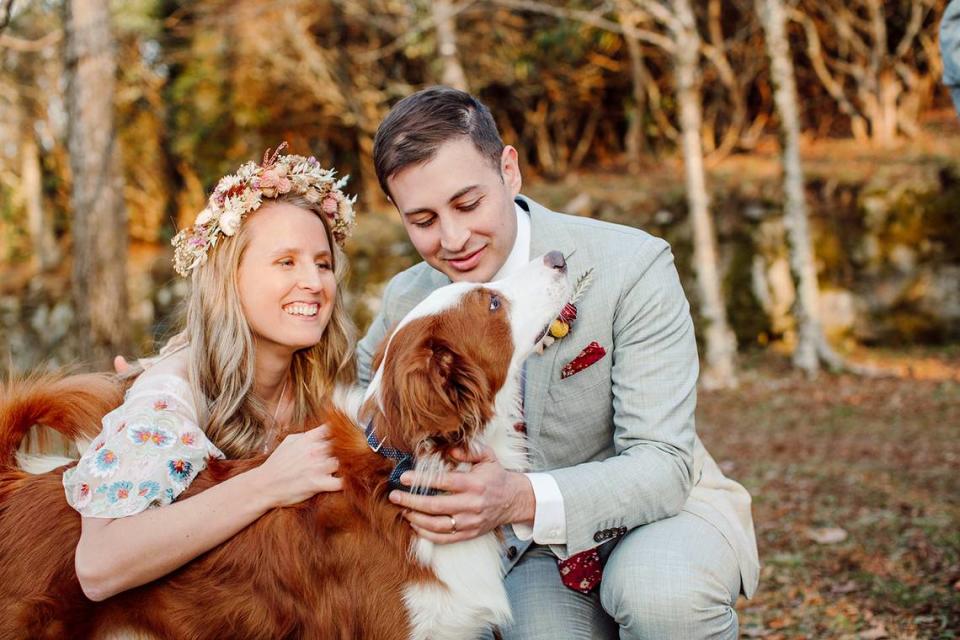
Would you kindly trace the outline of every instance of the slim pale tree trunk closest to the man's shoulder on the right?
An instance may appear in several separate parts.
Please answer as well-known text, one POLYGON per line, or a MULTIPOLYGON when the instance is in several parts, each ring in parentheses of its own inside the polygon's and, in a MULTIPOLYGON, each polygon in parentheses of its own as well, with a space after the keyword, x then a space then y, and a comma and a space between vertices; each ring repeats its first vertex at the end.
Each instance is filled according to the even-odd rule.
POLYGON ((687 174, 687 202, 693 225, 693 260, 700 294, 700 312, 706 321, 703 331, 706 362, 701 381, 708 389, 732 388, 737 385, 734 365, 737 340, 727 322, 721 293, 716 232, 710 216, 703 168, 700 77, 697 67, 700 36, 689 0, 674 0, 673 10, 677 20, 674 56, 677 103, 680 107, 681 140, 687 174))

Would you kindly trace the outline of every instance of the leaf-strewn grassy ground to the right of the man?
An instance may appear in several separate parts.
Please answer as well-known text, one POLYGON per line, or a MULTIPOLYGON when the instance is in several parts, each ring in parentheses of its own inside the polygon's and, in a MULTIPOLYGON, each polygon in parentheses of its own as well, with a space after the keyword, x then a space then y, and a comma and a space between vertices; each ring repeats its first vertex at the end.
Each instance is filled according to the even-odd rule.
POLYGON ((765 355, 701 395, 704 442, 754 496, 744 637, 960 636, 960 348, 879 359, 901 377, 811 381, 765 355))

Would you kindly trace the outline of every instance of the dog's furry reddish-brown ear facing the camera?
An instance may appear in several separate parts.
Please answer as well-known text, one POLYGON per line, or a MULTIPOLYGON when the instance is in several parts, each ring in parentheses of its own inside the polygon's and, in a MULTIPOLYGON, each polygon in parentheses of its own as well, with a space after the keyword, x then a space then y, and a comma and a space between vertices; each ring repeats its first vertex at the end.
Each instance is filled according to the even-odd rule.
POLYGON ((458 441, 493 415, 490 383, 455 346, 416 329, 404 327, 391 341, 381 387, 385 427, 404 448, 430 436, 458 441))

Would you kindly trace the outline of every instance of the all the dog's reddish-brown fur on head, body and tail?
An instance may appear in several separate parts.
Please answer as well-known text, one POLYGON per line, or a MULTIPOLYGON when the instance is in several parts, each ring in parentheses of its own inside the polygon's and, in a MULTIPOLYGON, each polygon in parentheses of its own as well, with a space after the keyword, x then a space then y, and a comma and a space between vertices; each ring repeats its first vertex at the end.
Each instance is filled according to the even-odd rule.
MULTIPOLYGON (((460 332, 477 329, 462 314, 484 304, 478 298, 453 319, 417 322, 394 337, 384 371, 388 417, 374 417, 393 446, 412 449, 430 437, 447 449, 491 415, 509 364, 509 327, 492 322, 479 341, 485 346, 458 346, 460 332), (436 419, 439 430, 424 433, 430 421, 417 411, 436 419)), ((408 637, 404 588, 436 578, 411 560, 412 530, 386 499, 392 463, 336 411, 318 422, 330 426, 342 492, 274 509, 164 578, 89 601, 74 572, 80 516, 64 498, 65 467, 31 475, 14 468, 13 451, 35 423, 70 437, 94 435, 119 400, 119 386, 105 376, 39 378, 0 395, 0 640, 85 638, 124 628, 178 639, 408 637)), ((184 497, 264 458, 211 461, 184 497)))

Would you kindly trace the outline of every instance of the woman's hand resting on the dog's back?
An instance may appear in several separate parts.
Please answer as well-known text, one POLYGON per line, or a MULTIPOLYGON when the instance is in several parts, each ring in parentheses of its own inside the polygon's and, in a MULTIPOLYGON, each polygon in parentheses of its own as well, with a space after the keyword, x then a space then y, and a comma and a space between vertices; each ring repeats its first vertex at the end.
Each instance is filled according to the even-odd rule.
POLYGON ((330 453, 328 435, 326 425, 293 433, 254 470, 260 490, 274 506, 286 507, 321 491, 343 488, 343 480, 334 475, 340 464, 330 453))

